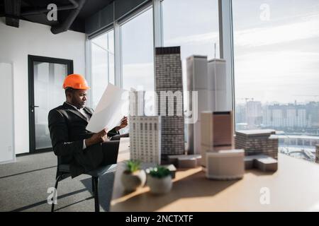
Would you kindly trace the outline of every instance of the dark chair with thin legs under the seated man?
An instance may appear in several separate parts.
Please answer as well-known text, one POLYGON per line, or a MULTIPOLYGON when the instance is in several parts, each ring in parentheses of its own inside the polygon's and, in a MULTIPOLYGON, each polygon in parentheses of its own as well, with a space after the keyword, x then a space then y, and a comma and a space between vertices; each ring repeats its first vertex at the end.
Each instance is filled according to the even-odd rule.
MULTIPOLYGON (((92 192, 94 196, 94 206, 95 212, 100 212, 100 202, 99 202, 99 178, 104 174, 115 172, 116 164, 106 165, 103 167, 99 167, 98 169, 94 169, 90 172, 86 172, 84 174, 88 174, 92 178, 92 192)), ((55 177, 55 191, 57 191, 57 185, 63 179, 67 177, 71 177, 69 164, 60 164, 60 157, 57 157, 57 174, 55 177)), ((55 202, 52 201, 51 212, 55 210, 55 202)))

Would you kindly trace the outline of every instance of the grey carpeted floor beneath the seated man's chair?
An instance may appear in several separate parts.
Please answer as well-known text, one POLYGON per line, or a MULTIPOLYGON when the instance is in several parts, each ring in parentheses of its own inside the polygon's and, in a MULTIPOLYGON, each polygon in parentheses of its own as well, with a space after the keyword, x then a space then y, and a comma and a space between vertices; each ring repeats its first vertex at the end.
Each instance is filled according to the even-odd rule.
MULTIPOLYGON (((57 157, 54 153, 39 153, 17 157, 16 162, 0 165, 0 211, 51 210, 47 193, 55 186, 57 157)), ((108 211, 114 174, 100 179, 100 210, 108 211)), ((94 211, 91 177, 67 178, 57 188, 56 211, 94 211)))

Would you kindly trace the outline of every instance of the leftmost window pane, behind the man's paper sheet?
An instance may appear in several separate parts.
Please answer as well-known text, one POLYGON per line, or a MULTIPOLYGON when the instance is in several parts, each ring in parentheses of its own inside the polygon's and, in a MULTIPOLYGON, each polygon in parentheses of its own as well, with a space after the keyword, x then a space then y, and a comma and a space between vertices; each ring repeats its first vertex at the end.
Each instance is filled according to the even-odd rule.
POLYGON ((91 40, 91 95, 95 109, 108 83, 114 84, 114 32, 91 40))

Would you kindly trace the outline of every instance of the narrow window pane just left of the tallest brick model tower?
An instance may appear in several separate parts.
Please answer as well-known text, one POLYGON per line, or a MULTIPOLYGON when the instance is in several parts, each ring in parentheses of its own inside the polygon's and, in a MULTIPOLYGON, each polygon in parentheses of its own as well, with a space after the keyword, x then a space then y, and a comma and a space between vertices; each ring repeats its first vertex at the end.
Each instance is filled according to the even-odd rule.
POLYGON ((121 25, 122 81, 130 90, 154 90, 152 8, 121 25))

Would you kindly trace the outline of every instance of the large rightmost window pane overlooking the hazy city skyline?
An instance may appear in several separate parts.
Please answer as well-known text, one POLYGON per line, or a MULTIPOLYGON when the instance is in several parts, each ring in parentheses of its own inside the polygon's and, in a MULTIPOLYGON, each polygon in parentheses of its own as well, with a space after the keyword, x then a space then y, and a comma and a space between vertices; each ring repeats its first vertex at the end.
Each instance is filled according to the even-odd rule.
POLYGON ((279 152, 315 160, 319 2, 233 0, 236 129, 273 129, 279 152))

